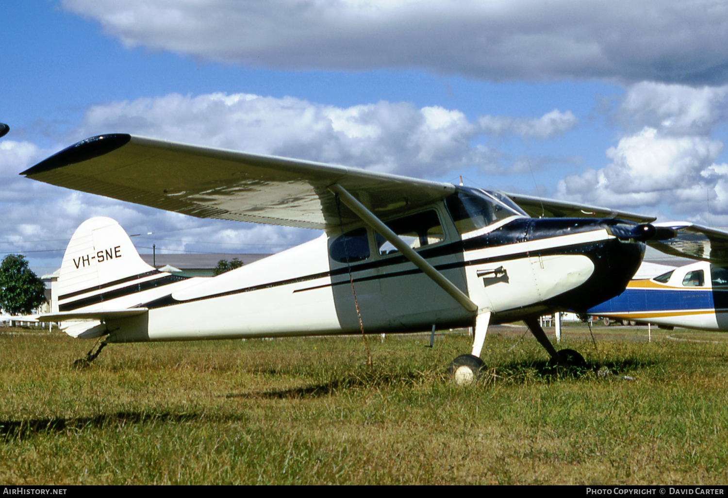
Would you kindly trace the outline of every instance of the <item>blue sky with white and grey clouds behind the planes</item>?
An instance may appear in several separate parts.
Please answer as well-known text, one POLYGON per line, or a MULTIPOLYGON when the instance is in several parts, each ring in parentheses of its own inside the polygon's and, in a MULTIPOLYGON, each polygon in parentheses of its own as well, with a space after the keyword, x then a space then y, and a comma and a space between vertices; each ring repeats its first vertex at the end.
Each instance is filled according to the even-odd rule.
POLYGON ((0 0, 0 256, 60 266, 110 216, 141 253, 317 237, 18 173, 130 133, 728 226, 728 2, 0 0))

